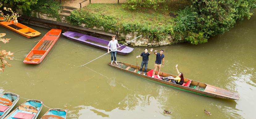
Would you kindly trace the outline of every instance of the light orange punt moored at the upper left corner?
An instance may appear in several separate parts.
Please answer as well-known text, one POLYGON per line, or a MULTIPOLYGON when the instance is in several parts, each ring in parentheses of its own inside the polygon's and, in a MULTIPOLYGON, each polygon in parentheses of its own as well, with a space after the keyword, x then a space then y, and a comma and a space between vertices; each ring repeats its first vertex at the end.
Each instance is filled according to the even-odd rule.
MULTIPOLYGON (((2 20, 3 17, 0 17, 0 19, 2 20)), ((35 36, 39 36, 41 33, 31 29, 21 23, 17 23, 14 24, 14 21, 2 21, 0 22, 0 25, 6 27, 7 29, 13 30, 17 33, 19 33, 20 35, 26 36, 27 38, 31 38, 31 37, 35 37, 35 36)))

